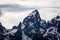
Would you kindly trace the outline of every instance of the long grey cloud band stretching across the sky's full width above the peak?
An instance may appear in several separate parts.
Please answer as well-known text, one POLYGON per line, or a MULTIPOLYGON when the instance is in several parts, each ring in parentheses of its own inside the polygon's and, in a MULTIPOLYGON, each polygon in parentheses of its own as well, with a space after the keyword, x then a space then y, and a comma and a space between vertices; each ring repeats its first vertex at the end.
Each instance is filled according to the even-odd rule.
MULTIPOLYGON (((26 10, 33 10, 33 9, 44 9, 44 8, 57 8, 57 7, 38 7, 38 6, 29 7, 29 6, 22 6, 22 5, 18 5, 18 4, 0 5, 0 10, 11 11, 11 12, 26 11, 26 10)), ((58 7, 57 9, 59 9, 59 8, 60 7, 58 7)))

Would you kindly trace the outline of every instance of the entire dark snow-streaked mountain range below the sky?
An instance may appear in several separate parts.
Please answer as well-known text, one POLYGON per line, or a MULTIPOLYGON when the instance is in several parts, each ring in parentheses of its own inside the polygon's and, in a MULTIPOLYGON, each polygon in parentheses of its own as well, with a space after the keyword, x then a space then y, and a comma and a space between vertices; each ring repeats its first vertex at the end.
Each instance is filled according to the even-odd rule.
POLYGON ((39 11, 34 10, 12 29, 0 23, 0 40, 60 40, 60 16, 46 22, 39 11))

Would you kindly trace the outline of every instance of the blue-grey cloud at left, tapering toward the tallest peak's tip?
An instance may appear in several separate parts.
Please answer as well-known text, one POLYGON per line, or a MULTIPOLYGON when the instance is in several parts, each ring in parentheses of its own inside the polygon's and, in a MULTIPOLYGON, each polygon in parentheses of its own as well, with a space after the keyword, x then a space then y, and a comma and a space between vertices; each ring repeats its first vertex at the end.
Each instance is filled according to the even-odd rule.
POLYGON ((4 11, 12 11, 12 12, 16 12, 16 11, 26 11, 26 10, 31 10, 31 9, 35 9, 32 7, 26 7, 26 6, 21 6, 21 5, 17 5, 17 4, 6 4, 6 5, 0 5, 0 9, 4 10, 4 11))

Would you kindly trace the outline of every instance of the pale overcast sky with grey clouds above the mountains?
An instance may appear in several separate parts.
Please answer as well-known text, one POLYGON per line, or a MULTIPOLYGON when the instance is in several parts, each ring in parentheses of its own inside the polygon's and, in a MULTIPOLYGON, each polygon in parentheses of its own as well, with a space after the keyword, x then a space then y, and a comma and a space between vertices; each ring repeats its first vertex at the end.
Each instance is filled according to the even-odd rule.
POLYGON ((34 9, 38 9, 42 19, 51 20, 60 15, 60 0, 0 0, 0 22, 10 29, 34 9))

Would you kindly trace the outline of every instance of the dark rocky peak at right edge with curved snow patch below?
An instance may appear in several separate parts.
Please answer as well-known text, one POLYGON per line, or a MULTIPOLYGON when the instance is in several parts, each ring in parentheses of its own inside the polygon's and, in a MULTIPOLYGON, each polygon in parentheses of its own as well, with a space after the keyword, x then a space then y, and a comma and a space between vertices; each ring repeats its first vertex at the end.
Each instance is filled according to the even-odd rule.
POLYGON ((45 37, 51 40, 60 40, 60 16, 54 17, 47 22, 45 37))

